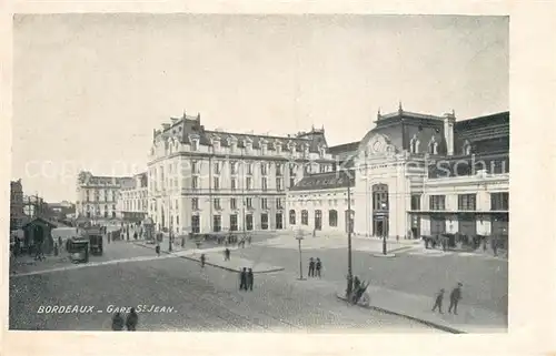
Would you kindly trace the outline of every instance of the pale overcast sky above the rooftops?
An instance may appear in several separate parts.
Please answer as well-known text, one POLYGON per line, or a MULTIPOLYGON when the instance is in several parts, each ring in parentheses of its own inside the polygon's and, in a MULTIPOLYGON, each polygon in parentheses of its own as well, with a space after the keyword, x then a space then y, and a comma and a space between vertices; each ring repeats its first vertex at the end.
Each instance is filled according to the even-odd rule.
POLYGON ((505 17, 48 14, 13 31, 12 179, 50 202, 76 199, 80 169, 145 169, 183 110, 235 132, 324 125, 334 145, 399 101, 458 120, 509 105, 505 17))

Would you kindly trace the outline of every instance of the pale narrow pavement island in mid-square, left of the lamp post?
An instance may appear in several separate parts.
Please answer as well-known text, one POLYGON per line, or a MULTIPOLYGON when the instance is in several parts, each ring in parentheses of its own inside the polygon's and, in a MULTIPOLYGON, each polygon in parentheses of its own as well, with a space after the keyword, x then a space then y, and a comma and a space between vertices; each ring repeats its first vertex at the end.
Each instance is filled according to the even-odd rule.
MULTIPOLYGON (((133 242, 136 245, 143 246, 147 248, 155 250, 156 245, 152 244, 146 244, 142 242, 133 242)), ((160 252, 165 254, 171 254, 180 258, 189 260, 189 261, 195 261, 200 264, 200 257, 201 254, 205 254, 205 264, 207 266, 212 266, 221 269, 226 269, 229 272, 236 272, 239 273, 244 267, 245 268, 252 268, 254 273, 271 273, 271 272, 278 272, 278 271, 284 271, 284 267, 280 266, 272 266, 270 264, 264 263, 264 262, 256 262, 251 260, 246 260, 242 257, 237 256, 234 252, 237 250, 240 250, 238 247, 228 247, 230 250, 230 261, 224 261, 224 251, 226 250, 225 246, 222 247, 205 247, 202 248, 195 248, 191 247, 193 243, 186 243, 186 246, 182 248, 180 246, 172 246, 172 252, 169 252, 168 248, 163 248, 162 245, 160 246, 160 252)))

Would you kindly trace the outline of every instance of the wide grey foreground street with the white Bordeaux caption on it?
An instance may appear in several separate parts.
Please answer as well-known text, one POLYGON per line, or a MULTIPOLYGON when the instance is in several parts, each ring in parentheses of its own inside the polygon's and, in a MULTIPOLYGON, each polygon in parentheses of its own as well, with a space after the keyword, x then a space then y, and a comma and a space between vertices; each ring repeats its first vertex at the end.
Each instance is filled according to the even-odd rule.
MULTIPOLYGON (((265 247, 251 252, 257 254, 257 248, 265 247)), ((329 257, 321 257, 326 266, 329 257)), ((255 291, 239 292, 236 273, 210 266, 201 269, 196 262, 170 255, 156 257, 151 250, 132 243, 111 243, 87 267, 71 269, 69 265, 67 271, 10 276, 9 325, 10 329, 109 330, 115 306, 142 305, 159 311, 140 313, 139 330, 438 332, 406 318, 347 306, 334 293, 296 281, 289 271, 292 266, 286 267, 284 273, 256 275, 255 291), (41 307, 57 305, 89 309, 39 313, 41 307)))

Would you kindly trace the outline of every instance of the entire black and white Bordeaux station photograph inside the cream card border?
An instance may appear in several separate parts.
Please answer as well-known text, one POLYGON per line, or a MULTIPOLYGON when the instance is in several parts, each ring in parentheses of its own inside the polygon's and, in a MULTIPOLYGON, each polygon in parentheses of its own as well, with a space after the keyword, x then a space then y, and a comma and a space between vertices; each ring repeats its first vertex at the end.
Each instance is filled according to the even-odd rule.
POLYGON ((508 16, 12 31, 10 330, 508 332, 508 16))

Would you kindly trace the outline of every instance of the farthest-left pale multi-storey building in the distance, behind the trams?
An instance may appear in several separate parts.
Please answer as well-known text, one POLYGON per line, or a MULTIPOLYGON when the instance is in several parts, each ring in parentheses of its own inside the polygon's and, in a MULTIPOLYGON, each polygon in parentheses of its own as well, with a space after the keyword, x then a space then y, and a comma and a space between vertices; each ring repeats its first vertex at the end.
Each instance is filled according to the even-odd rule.
POLYGON ((120 190, 132 177, 96 176, 80 172, 77 179, 76 212, 78 217, 121 218, 118 210, 120 190))

